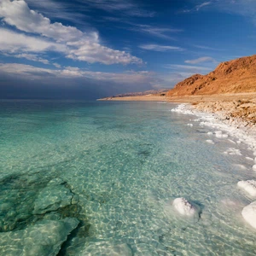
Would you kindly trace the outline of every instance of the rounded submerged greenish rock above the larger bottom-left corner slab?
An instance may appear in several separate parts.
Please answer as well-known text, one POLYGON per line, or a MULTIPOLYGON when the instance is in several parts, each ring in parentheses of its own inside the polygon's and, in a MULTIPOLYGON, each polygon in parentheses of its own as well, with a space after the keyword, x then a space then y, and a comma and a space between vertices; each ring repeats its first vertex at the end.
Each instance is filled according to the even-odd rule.
POLYGON ((56 211, 61 207, 67 207, 72 204, 73 195, 60 178, 55 178, 39 192, 34 202, 33 214, 44 214, 45 212, 56 211))

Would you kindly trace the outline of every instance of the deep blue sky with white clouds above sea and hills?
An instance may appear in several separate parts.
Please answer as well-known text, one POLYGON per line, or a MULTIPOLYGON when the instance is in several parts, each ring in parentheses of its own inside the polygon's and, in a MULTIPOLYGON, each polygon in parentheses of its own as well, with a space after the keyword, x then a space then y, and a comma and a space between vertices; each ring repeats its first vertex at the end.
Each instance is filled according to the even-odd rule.
POLYGON ((0 0, 0 98, 169 89, 255 45, 256 0, 0 0))

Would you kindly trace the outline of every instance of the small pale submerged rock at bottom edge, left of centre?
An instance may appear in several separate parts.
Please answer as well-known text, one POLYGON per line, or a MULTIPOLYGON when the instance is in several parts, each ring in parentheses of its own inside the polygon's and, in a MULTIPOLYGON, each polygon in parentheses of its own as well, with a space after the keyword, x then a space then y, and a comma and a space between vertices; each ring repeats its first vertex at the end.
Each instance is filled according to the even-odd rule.
POLYGON ((115 244, 108 241, 96 241, 90 242, 81 255, 132 256, 132 252, 126 243, 115 244))

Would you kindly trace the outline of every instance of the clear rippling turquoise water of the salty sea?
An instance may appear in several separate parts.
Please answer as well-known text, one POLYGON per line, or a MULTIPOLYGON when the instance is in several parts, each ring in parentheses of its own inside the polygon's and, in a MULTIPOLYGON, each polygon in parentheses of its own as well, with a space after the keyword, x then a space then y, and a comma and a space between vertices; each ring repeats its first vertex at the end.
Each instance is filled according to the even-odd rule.
POLYGON ((176 106, 0 102, 0 255, 255 255, 236 185, 253 153, 224 154, 176 106))

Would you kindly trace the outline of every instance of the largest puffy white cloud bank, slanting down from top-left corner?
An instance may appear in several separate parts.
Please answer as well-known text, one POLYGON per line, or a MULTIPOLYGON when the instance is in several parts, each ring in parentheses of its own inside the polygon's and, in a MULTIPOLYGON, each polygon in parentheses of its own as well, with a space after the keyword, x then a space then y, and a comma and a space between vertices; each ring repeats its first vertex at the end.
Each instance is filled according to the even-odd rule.
MULTIPOLYGON (((26 37, 26 40, 15 42, 15 40, 9 40, 9 45, 5 45, 5 50, 11 52, 14 49, 25 49, 29 51, 38 50, 57 50, 56 47, 49 48, 45 42, 45 38, 54 40, 55 43, 51 43, 52 46, 59 45, 61 49, 65 49, 65 55, 67 58, 72 58, 79 61, 87 61, 90 63, 101 62, 104 64, 120 63, 123 65, 135 63, 142 64, 143 61, 135 56, 124 51, 110 49, 103 46, 100 42, 97 32, 81 32, 73 26, 63 26, 61 23, 51 23, 50 20, 41 14, 29 9, 26 2, 2 0, 0 3, 0 18, 11 26, 15 26, 20 31, 39 34, 41 38, 26 37, 25 35, 19 35, 14 32, 16 38, 26 37), (28 39, 29 38, 29 39, 28 39), (32 40, 39 40, 39 47, 36 44, 30 44, 32 40), (26 43, 29 41, 29 44, 26 43), (44 44, 44 45, 43 45, 44 44), (21 47, 22 46, 22 47, 21 47)), ((10 32, 9 32, 10 33, 10 32)), ((1 37, 2 38, 2 37, 1 37)), ((1 39, 4 41, 4 39, 1 39)), ((4 42, 2 42, 4 43, 4 42)), ((49 42, 47 42, 49 44, 49 42)))

